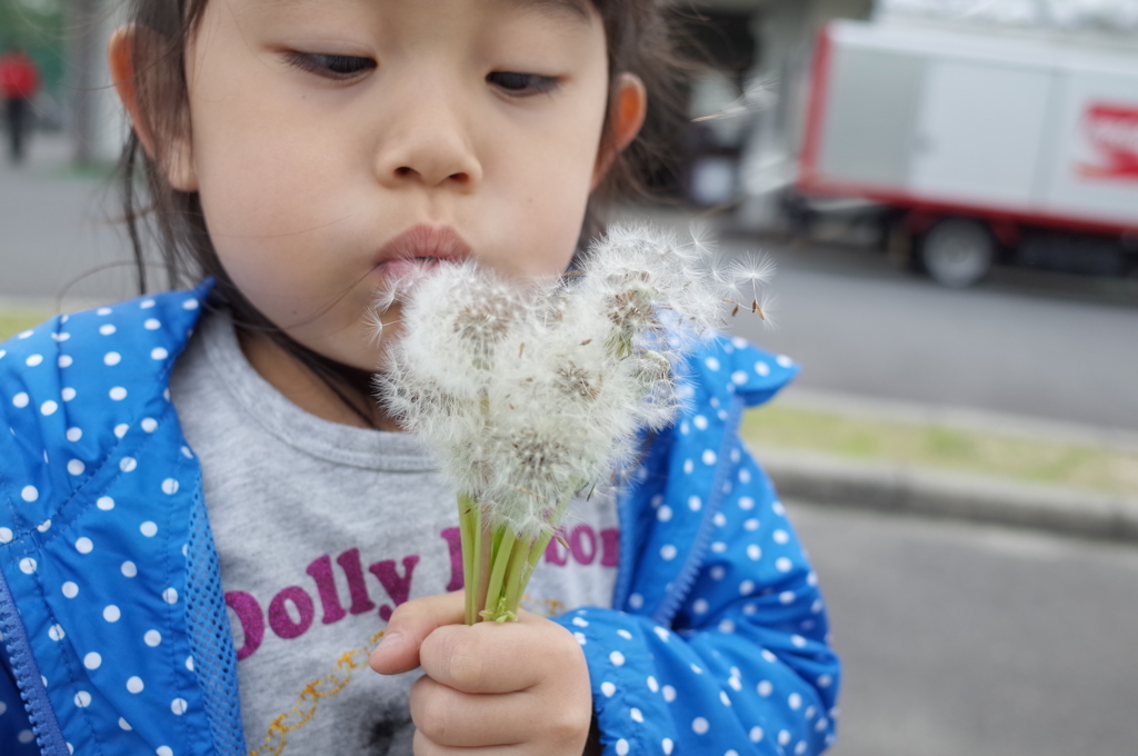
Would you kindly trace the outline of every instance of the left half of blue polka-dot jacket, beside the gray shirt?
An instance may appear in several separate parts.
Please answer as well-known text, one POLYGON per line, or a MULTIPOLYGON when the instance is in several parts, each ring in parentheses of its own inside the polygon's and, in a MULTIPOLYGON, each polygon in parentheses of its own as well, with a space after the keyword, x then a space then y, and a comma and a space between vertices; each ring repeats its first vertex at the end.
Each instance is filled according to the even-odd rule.
MULTIPOLYGON (((183 477, 192 458, 179 454, 178 424, 164 421, 163 371, 196 322, 198 298, 170 294, 59 317, 0 346, 0 486, 13 486, 0 495, 19 516, 0 508, 0 548, 22 549, 5 577, 64 729, 57 742, 72 753, 119 756, 151 742, 162 756, 189 754, 200 747, 178 733, 209 731, 181 621, 155 624, 184 616, 171 611, 181 583, 157 567, 184 564, 193 494, 183 477), (69 664, 66 654, 76 655, 69 664), (179 659, 176 669, 155 667, 157 658, 179 659), (141 740, 122 740, 130 723, 141 740)), ((0 706, 9 707, 3 684, 0 706)), ((0 708, 0 717, 22 709, 0 708)), ((11 745, 33 749, 16 746, 13 756, 38 753, 30 729, 13 732, 11 745)))

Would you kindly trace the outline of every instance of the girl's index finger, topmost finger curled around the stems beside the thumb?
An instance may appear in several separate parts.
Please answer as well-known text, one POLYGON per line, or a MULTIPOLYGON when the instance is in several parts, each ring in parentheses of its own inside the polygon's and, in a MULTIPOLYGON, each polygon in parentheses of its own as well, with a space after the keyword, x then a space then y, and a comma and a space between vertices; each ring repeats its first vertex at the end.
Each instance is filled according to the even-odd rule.
POLYGON ((585 667, 580 646, 563 627, 544 618, 439 627, 420 649, 423 672, 467 693, 528 690, 558 671, 585 667))

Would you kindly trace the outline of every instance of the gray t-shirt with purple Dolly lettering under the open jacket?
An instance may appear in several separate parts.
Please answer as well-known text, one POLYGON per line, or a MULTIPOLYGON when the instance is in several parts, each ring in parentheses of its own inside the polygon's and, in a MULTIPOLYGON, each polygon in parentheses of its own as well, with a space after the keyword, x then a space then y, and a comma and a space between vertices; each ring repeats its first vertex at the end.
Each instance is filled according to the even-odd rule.
MULTIPOLYGON (((204 317, 171 393, 201 460, 238 648, 246 745, 261 754, 411 754, 418 671, 384 677, 368 652, 410 598, 462 581, 455 496, 415 436, 329 422, 248 363, 229 315, 204 317)), ((610 606, 611 494, 578 501, 523 606, 610 606)))

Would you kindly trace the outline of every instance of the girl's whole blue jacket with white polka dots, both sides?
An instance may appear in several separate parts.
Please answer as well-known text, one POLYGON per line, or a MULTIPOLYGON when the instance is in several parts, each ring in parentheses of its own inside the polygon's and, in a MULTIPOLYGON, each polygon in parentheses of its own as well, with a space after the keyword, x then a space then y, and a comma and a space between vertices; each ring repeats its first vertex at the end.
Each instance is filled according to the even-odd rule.
MULTIPOLYGON (((0 542, 33 544, 11 570, 14 590, 44 587, 58 616, 33 601, 28 625, 38 642, 74 648, 82 665, 72 666, 88 675, 72 679, 44 657, 52 705, 86 709, 61 720, 76 723, 64 734, 79 753, 91 749, 82 728, 105 743, 138 729, 131 737, 158 756, 196 753, 178 733, 209 728, 185 631, 171 619, 184 616, 192 594, 164 566, 185 561, 178 515, 196 493, 185 475, 195 458, 167 421, 168 391, 157 378, 199 309, 199 296, 149 297, 73 317, 69 338, 60 319, 5 345, 0 358, 0 417, 22 442, 0 441, 0 454, 19 450, 25 470, 8 498, 26 508, 22 523, 61 534, 44 541, 0 512, 0 542), (58 438, 39 442, 49 425, 58 438), (55 468, 40 461, 41 449, 55 468), (80 486, 81 511, 51 525, 80 486), (176 668, 156 667, 158 657, 178 659, 176 668)), ((832 717, 817 713, 833 708, 838 668, 825 656, 817 578, 769 482, 731 433, 742 406, 776 391, 794 367, 741 340, 700 348, 679 392, 691 409, 637 474, 637 504, 651 516, 634 544, 635 580, 621 589, 620 608, 632 614, 588 609, 564 622, 589 660, 615 753, 739 756, 765 738, 764 728, 780 740, 787 733, 786 753, 818 753, 832 717), (798 634, 782 634, 787 626, 798 634), (752 627, 765 628, 769 649, 728 655, 742 648, 728 643, 753 642, 745 640, 752 627), (790 655, 811 658, 813 680, 783 662, 790 655)))

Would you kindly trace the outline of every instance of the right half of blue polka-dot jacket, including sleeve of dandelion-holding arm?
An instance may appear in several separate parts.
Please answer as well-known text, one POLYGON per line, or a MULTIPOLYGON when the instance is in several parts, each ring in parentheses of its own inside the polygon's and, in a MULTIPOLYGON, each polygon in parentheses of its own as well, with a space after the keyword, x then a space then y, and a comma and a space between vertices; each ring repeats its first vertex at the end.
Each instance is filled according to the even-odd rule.
MULTIPOLYGON (((752 753, 750 743, 767 739, 769 729, 790 734, 780 746, 783 753, 817 754, 832 736, 830 721, 822 722, 817 712, 833 700, 818 681, 830 675, 826 682, 832 684, 836 669, 824 646, 827 631, 818 609, 817 576, 769 480, 737 439, 725 435, 743 403, 776 391, 794 367, 742 340, 719 342, 718 348, 698 363, 700 380, 686 392, 692 410, 678 419, 674 446, 644 462, 650 474, 642 476, 648 488, 643 498, 651 502, 654 518, 642 550, 644 578, 633 583, 624 605, 645 622, 648 616, 665 622, 675 617, 682 639, 673 641, 671 633, 654 626, 648 635, 655 636, 652 643, 637 651, 621 646, 627 639, 619 630, 627 621, 588 611, 589 644, 583 648, 592 667, 607 671, 597 695, 611 701, 602 705, 601 726, 629 743, 634 740, 626 732, 655 732, 658 753, 724 756, 752 753), (653 480, 669 483, 652 488, 653 480), (682 597, 679 603, 676 595, 682 597), (765 627, 772 648, 733 655, 734 665, 726 665, 714 638, 749 638, 747 628, 752 626, 765 627), (780 634, 786 626, 799 633, 780 634), (619 666, 608 658, 615 649, 619 666), (815 650, 825 651, 814 659, 828 672, 814 681, 801 679, 782 660, 784 655, 815 650), (686 677, 677 672, 684 666, 686 677), (629 721, 635 725, 630 730, 629 721)), ((628 630, 634 639, 642 638, 628 630)))

